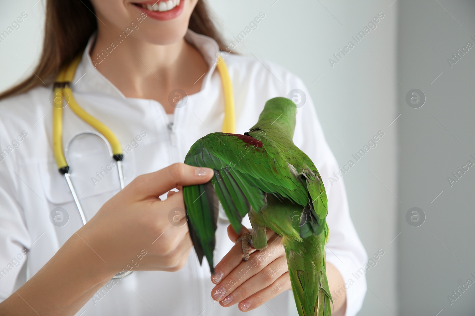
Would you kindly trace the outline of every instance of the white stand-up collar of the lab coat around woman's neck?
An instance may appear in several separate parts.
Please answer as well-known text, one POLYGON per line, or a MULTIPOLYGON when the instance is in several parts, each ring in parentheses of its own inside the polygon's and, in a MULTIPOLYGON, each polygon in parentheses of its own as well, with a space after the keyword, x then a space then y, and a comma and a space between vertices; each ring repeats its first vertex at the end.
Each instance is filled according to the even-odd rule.
MULTIPOLYGON (((95 67, 91 56, 89 55, 95 42, 95 37, 96 34, 94 33, 89 38, 82 60, 76 69, 76 74, 73 80, 73 91, 78 93, 107 94, 111 97, 127 99, 123 93, 95 67)), ((208 72, 206 72, 205 77, 203 78, 201 92, 209 87, 211 76, 216 69, 216 63, 218 61, 219 46, 213 38, 198 34, 190 29, 188 29, 185 34, 185 40, 198 49, 199 53, 203 56, 205 62, 209 66, 208 72)))

